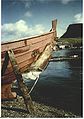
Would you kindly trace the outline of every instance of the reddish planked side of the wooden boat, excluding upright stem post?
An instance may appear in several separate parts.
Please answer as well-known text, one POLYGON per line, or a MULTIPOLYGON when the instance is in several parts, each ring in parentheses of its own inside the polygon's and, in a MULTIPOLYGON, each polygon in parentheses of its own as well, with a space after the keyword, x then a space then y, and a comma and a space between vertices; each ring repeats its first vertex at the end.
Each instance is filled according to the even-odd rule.
MULTIPOLYGON (((23 73, 33 62, 37 60, 39 55, 45 49, 46 45, 51 44, 53 40, 54 32, 49 32, 37 37, 4 43, 1 45, 1 64, 3 65, 6 51, 12 49, 20 71, 23 73)), ((5 74, 2 76, 2 84, 12 83, 12 81, 15 79, 16 78, 9 61, 5 74)))

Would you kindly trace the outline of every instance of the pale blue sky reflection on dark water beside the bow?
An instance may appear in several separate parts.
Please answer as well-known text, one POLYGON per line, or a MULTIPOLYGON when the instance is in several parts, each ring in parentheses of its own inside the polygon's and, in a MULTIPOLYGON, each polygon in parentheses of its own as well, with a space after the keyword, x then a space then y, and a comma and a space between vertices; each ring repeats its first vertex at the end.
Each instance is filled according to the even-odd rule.
POLYGON ((68 62, 50 62, 47 70, 43 72, 41 76, 46 76, 48 73, 48 77, 70 77, 71 70, 68 62), (53 70, 53 71, 52 71, 53 70))

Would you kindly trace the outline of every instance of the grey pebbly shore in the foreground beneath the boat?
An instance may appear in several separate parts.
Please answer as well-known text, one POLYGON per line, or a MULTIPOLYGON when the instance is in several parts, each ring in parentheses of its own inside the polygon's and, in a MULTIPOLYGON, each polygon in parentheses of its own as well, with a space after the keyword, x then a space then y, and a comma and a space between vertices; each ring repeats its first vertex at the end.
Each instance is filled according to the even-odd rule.
POLYGON ((39 104, 33 101, 35 114, 29 114, 26 111, 24 100, 21 96, 17 96, 16 99, 10 101, 2 101, 1 103, 1 117, 14 117, 14 118, 43 118, 43 117, 77 117, 71 112, 65 112, 64 110, 58 110, 54 107, 39 104))

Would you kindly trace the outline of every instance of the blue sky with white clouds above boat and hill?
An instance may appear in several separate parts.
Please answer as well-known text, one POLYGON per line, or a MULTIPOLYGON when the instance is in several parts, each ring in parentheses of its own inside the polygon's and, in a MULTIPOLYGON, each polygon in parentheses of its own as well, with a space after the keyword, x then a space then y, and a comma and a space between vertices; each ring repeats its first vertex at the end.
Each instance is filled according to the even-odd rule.
POLYGON ((82 0, 2 0, 2 42, 48 32, 53 19, 60 37, 82 22, 82 0))

